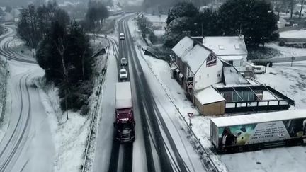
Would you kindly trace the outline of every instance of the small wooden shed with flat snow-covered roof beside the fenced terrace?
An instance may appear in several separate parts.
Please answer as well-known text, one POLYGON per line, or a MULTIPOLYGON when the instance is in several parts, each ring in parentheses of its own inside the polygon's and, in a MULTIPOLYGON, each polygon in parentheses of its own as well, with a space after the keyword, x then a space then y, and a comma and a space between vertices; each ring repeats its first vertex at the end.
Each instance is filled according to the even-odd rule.
POLYGON ((203 115, 223 115, 225 98, 211 86, 196 93, 196 106, 203 115))

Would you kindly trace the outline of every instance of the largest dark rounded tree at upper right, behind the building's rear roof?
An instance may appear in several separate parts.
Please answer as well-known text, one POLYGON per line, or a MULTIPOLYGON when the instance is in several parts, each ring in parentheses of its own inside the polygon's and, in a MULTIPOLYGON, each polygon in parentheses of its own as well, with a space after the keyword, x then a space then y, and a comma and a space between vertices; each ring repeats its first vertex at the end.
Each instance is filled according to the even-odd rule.
POLYGON ((219 9, 225 35, 244 35, 246 45, 258 46, 278 38, 277 19, 265 0, 229 0, 219 9))

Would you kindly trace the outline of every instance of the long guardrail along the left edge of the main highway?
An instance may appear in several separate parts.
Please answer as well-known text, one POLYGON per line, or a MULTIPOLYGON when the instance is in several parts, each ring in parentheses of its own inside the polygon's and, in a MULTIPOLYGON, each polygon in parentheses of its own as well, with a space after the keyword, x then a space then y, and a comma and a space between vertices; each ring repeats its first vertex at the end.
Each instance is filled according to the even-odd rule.
MULTIPOLYGON (((108 55, 107 54, 107 59, 108 59, 108 55)), ((101 74, 101 78, 100 78, 100 81, 98 81, 98 97, 96 98, 96 105, 94 106, 94 113, 91 113, 92 115, 92 118, 91 118, 91 128, 90 128, 90 132, 89 132, 89 136, 88 136, 88 139, 87 139, 87 145, 86 145, 86 149, 85 149, 85 154, 84 154, 84 162, 83 164, 81 165, 81 172, 85 172, 86 171, 86 168, 87 168, 87 165, 88 165, 88 160, 89 160, 89 148, 91 147, 91 139, 93 138, 93 134, 94 134, 94 125, 95 125, 95 122, 97 120, 97 113, 98 113, 98 103, 99 103, 99 100, 100 100, 100 96, 101 96, 101 88, 102 88, 102 85, 103 85, 103 81, 104 81, 104 76, 106 74, 106 69, 107 69, 107 59, 106 59, 106 66, 104 67, 103 71, 102 71, 102 74, 101 74)))

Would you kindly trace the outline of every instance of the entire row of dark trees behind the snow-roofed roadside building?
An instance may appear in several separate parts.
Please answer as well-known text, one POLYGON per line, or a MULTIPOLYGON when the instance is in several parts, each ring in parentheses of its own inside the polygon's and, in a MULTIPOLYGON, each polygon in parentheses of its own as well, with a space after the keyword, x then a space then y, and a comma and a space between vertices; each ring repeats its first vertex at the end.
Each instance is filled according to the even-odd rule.
POLYGON ((191 3, 171 8, 164 45, 173 47, 185 35, 244 35, 246 45, 259 46, 278 38, 277 19, 265 0, 228 0, 218 11, 198 11, 191 3))

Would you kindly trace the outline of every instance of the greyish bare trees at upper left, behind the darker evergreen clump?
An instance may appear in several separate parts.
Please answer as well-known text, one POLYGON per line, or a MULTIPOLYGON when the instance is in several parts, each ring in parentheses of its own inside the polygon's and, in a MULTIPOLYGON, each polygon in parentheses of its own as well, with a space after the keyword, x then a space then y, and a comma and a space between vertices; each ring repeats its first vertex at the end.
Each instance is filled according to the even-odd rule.
POLYGON ((69 24, 67 12, 59 8, 55 1, 49 1, 47 5, 38 8, 30 4, 21 11, 17 33, 29 47, 36 48, 55 21, 61 25, 69 24))

